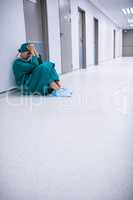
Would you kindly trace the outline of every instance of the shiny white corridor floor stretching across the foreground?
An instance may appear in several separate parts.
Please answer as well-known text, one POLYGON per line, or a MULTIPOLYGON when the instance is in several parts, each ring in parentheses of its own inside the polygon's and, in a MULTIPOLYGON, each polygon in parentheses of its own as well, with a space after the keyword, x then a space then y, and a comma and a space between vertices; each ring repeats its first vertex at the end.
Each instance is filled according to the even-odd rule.
POLYGON ((72 98, 0 98, 0 200, 133 200, 133 58, 62 79, 72 98))

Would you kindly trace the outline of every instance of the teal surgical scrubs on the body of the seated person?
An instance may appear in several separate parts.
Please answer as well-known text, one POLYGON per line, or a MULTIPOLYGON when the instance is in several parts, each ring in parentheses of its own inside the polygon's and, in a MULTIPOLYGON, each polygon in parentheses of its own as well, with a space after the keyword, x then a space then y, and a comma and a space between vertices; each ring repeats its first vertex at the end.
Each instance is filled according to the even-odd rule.
POLYGON ((52 91, 50 84, 59 81, 55 64, 43 61, 41 56, 32 56, 28 60, 17 58, 13 63, 13 72, 17 86, 26 95, 47 95, 52 91))

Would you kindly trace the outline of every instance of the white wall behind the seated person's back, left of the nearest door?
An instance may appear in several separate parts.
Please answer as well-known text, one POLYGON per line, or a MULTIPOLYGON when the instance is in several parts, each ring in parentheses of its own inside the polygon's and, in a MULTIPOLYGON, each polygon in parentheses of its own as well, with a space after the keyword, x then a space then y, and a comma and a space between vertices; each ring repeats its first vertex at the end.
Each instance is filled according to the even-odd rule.
POLYGON ((12 60, 25 41, 23 0, 0 1, 0 91, 14 86, 12 60))

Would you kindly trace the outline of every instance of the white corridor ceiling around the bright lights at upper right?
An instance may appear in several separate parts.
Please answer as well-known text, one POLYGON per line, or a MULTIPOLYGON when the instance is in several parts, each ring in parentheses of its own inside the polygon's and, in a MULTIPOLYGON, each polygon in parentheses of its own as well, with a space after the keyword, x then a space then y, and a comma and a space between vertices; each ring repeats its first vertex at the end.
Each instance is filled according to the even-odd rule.
POLYGON ((128 19, 133 19, 133 14, 124 15, 122 9, 133 8, 133 0, 90 0, 90 2, 100 9, 120 28, 131 28, 129 26, 128 19))

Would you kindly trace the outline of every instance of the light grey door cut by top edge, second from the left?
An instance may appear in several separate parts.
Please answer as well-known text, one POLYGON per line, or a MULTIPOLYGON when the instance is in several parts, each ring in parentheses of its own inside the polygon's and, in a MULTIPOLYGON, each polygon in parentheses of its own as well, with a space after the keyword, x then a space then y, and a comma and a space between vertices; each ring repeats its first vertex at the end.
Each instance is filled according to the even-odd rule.
POLYGON ((72 71, 70 0, 59 0, 62 73, 72 71))

